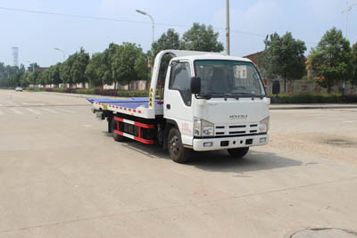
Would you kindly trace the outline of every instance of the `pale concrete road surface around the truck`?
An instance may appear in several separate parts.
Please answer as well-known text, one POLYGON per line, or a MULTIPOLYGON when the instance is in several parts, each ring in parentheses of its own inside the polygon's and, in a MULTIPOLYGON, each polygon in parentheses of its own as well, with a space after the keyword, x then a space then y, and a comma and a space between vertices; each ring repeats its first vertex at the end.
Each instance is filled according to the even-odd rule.
POLYGON ((357 110, 271 111, 244 160, 120 144, 83 98, 0 90, 0 237, 285 237, 357 230, 357 110))

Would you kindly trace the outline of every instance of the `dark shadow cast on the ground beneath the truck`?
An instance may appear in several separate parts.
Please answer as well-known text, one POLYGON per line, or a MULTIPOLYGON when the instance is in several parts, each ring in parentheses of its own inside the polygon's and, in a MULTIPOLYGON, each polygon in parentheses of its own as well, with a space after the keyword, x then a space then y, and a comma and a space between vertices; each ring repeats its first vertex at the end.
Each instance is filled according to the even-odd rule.
MULTIPOLYGON (((152 159, 171 160, 169 152, 158 146, 140 144, 134 141, 121 143, 126 148, 152 159)), ((243 159, 233 159, 227 151, 193 152, 191 159, 183 166, 195 167, 212 172, 236 172, 267 170, 303 166, 300 160, 293 160, 271 152, 257 152, 251 149, 243 159)))

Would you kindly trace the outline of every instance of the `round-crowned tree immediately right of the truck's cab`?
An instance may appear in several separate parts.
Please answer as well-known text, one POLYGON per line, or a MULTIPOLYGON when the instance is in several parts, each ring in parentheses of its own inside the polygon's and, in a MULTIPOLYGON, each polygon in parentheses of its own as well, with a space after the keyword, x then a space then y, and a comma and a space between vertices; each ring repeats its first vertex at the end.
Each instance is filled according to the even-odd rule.
POLYGON ((265 49, 258 58, 259 65, 268 77, 284 78, 284 93, 286 93, 286 79, 300 79, 306 72, 305 43, 296 40, 290 32, 283 37, 278 33, 267 36, 264 40, 265 49))

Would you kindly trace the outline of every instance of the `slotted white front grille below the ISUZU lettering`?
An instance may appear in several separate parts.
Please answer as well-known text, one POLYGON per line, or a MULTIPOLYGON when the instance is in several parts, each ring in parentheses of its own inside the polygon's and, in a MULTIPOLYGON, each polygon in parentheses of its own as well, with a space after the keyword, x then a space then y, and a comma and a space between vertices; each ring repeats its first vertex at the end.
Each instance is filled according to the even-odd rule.
POLYGON ((214 135, 252 135, 258 133, 257 127, 258 124, 256 122, 252 124, 217 125, 214 129, 214 135))

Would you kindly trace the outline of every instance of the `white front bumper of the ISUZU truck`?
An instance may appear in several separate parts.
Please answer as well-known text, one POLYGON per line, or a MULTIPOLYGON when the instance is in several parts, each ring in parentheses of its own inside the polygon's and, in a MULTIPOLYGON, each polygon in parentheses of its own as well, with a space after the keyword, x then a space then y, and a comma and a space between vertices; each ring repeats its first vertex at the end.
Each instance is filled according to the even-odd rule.
POLYGON ((269 143, 269 135, 245 135, 235 137, 220 137, 220 138, 194 138, 194 151, 215 151, 234 149, 241 147, 251 147, 264 145, 269 143))

